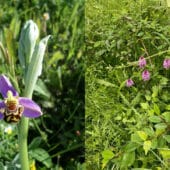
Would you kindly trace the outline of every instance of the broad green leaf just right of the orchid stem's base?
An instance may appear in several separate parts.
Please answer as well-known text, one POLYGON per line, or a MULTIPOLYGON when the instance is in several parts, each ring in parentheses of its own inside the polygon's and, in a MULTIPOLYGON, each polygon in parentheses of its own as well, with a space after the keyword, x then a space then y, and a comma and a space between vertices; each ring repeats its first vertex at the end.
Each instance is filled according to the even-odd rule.
POLYGON ((30 156, 36 159, 37 161, 41 162, 42 164, 44 164, 47 168, 50 168, 52 166, 50 155, 46 150, 42 148, 32 149, 30 151, 30 156))

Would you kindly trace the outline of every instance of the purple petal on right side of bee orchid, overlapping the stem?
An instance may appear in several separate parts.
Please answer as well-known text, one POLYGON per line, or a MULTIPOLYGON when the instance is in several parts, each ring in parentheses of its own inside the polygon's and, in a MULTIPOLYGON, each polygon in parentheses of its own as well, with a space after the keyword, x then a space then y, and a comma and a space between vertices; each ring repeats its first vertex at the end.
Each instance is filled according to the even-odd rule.
POLYGON ((24 116, 34 118, 42 115, 41 108, 31 99, 20 97, 19 103, 24 106, 24 116))

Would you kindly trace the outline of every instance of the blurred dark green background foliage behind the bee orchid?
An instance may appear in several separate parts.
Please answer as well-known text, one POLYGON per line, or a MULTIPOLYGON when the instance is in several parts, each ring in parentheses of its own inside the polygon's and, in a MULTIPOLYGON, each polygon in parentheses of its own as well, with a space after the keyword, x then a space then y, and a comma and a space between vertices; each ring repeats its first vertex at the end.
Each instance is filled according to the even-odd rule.
MULTIPOLYGON (((0 73, 10 77, 21 94, 24 84, 18 61, 18 41, 21 28, 29 19, 37 23, 40 38, 51 35, 43 73, 33 96, 44 115, 30 121, 30 160, 38 170, 83 169, 84 1, 13 0, 1 3, 0 73)), ((1 133, 3 130, 1 128, 1 133)), ((2 166, 18 161, 16 134, 15 128, 12 137, 6 139, 6 150, 4 137, 0 137, 2 166)))

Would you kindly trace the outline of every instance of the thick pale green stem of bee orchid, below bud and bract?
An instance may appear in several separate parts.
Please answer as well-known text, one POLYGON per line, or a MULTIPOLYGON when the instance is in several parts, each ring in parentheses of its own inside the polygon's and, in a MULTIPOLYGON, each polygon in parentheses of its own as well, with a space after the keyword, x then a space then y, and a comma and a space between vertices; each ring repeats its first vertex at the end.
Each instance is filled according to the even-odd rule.
MULTIPOLYGON (((25 88, 24 96, 28 98, 32 98, 33 88, 25 88)), ((29 159, 28 159, 28 127, 29 127, 29 118, 22 117, 19 123, 19 154, 20 154, 20 163, 21 170, 29 170, 29 159)))

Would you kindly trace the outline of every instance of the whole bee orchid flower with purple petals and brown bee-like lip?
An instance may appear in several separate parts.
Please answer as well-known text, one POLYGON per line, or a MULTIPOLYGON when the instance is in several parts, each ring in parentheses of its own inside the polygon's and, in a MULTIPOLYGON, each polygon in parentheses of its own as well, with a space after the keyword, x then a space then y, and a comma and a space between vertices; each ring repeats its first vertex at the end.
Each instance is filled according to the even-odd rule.
POLYGON ((0 101, 0 119, 6 122, 18 122, 22 115, 35 118, 42 115, 41 108, 31 99, 19 97, 5 75, 0 75, 0 93, 4 100, 0 101))

